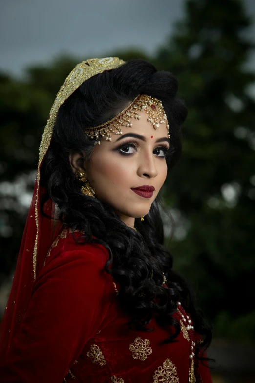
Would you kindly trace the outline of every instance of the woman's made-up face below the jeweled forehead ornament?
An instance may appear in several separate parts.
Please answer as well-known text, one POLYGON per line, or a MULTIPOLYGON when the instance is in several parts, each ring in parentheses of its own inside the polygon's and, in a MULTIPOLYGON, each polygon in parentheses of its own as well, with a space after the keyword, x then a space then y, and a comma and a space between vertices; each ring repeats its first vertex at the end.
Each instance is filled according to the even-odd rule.
POLYGON ((101 138, 95 145, 85 175, 103 202, 112 205, 127 225, 146 215, 161 189, 166 176, 166 151, 170 140, 166 124, 155 130, 147 121, 148 114, 139 112, 140 120, 131 119, 132 127, 122 127, 122 135, 111 133, 112 141, 101 138), (152 192, 134 192, 133 188, 149 185, 152 192))

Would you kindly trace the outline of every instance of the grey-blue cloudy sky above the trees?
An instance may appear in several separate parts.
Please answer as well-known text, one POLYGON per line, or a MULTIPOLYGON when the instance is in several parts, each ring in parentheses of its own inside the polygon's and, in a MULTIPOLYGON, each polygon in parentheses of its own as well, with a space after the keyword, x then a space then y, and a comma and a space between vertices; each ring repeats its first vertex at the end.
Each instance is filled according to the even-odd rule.
MULTIPOLYGON (((255 0, 244 0, 255 17, 255 0)), ((0 70, 17 76, 60 53, 153 53, 183 15, 184 0, 0 0, 0 70)), ((254 33, 252 28, 250 33, 254 33)))

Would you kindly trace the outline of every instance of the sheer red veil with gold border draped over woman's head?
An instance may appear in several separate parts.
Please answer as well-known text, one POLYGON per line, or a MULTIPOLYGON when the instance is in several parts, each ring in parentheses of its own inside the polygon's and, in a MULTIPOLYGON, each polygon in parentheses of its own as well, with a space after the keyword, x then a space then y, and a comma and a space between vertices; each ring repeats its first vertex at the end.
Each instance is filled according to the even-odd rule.
POLYGON ((53 219, 44 217, 40 211, 40 201, 46 192, 40 185, 40 169, 50 145, 59 107, 88 78, 105 70, 118 68, 122 64, 124 61, 118 57, 89 59, 78 64, 67 76, 51 108, 39 149, 35 188, 21 241, 11 293, 0 325, 1 360, 10 350, 13 338, 19 332, 21 321, 29 306, 34 281, 43 267, 48 248, 61 230, 61 225, 57 220, 57 206, 51 200, 45 204, 44 211, 53 219))

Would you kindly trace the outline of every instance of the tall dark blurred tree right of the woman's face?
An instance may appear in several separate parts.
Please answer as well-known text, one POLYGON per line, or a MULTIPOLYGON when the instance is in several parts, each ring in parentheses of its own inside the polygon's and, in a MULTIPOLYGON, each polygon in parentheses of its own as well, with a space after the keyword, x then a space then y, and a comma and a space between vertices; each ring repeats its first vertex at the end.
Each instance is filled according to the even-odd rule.
POLYGON ((189 0, 157 54, 189 109, 183 155, 165 199, 176 218, 168 245, 195 286, 215 335, 255 340, 255 75, 251 21, 239 0, 189 0), (178 224, 179 221, 179 224, 178 224))

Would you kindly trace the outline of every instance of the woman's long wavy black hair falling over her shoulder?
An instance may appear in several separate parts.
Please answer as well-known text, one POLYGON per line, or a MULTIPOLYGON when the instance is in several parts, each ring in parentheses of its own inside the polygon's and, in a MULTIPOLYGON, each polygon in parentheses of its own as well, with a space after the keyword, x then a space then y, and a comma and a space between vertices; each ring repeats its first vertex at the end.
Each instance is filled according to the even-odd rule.
POLYGON ((147 324, 153 313, 158 313, 159 325, 168 324, 175 329, 163 343, 174 341, 180 333, 180 325, 172 315, 180 301, 191 315, 195 331, 203 337, 197 355, 211 342, 211 326, 197 307, 189 283, 172 269, 172 256, 164 246, 160 195, 153 201, 143 222, 135 219, 137 231, 134 231, 121 221, 111 205, 82 194, 81 183, 69 162, 70 153, 85 153, 84 160, 92 156, 94 139, 85 135, 86 127, 110 120, 127 102, 139 94, 147 94, 161 100, 167 114, 171 136, 170 150, 166 154, 169 172, 181 155, 180 132, 187 116, 184 102, 176 97, 177 88, 177 81, 170 72, 157 71, 151 63, 141 59, 129 60, 119 68, 85 81, 59 109, 42 166, 41 180, 48 195, 41 202, 41 208, 43 211, 45 200, 51 198, 59 207, 60 221, 73 230, 84 231, 80 243, 98 243, 108 249, 105 271, 120 283, 119 303, 132 318, 130 328, 152 331, 147 324), (163 272, 168 288, 161 286, 163 272))

